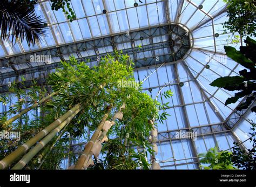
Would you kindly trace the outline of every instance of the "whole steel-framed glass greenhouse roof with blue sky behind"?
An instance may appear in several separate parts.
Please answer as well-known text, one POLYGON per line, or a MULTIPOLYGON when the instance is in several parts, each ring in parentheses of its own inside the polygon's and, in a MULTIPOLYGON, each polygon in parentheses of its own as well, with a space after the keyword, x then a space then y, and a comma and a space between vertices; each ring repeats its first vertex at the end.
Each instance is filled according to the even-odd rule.
MULTIPOLYGON (((224 33, 221 24, 227 12, 222 0, 142 0, 134 7, 135 2, 71 0, 77 17, 71 23, 62 11, 52 11, 49 1, 38 1, 35 10, 48 23, 48 36, 33 47, 25 41, 14 46, 10 40, 1 41, 1 93, 8 82, 20 81, 21 75, 26 80, 42 78, 70 55, 81 60, 90 58, 93 66, 96 57, 123 50, 136 62, 134 77, 140 81, 165 63, 143 84, 144 92, 152 98, 166 83, 164 90, 174 93, 171 100, 158 98, 170 102, 167 113, 171 116, 158 126, 157 158, 165 169, 198 168, 198 160, 192 157, 214 146, 224 150, 231 148, 234 140, 246 140, 249 120, 254 120, 250 112, 235 110, 241 99, 224 105, 234 92, 209 85, 219 77, 239 75, 244 67, 225 55, 224 45, 239 49, 244 44, 231 44, 232 33, 224 33), (186 39, 174 34, 179 27, 183 28, 180 37, 186 39), (177 60, 175 54, 181 54, 182 47, 172 47, 170 41, 178 40, 184 40, 180 46, 187 42, 189 47, 177 60), (142 50, 137 49, 140 45, 142 50), (31 54, 49 54, 51 62, 31 61, 31 54), (188 128, 198 132, 196 141, 174 138, 177 130, 188 128)), ((250 148, 251 144, 244 146, 250 148)))

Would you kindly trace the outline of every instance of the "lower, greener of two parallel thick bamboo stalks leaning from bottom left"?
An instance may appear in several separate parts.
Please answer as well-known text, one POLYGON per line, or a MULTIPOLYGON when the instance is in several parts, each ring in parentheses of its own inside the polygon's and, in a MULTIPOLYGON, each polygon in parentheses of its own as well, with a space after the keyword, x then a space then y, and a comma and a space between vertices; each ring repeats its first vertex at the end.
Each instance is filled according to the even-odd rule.
POLYGON ((44 148, 46 144, 48 144, 52 138, 56 136, 57 133, 59 133, 60 130, 62 130, 67 124, 70 123, 70 121, 75 117, 80 110, 82 110, 82 107, 76 110, 75 113, 70 115, 65 121, 59 124, 59 126, 55 129, 53 129, 47 136, 43 138, 42 141, 38 142, 38 144, 33 147, 27 154, 23 156, 23 158, 15 164, 15 166, 12 169, 22 169, 25 167, 25 165, 41 150, 44 148))

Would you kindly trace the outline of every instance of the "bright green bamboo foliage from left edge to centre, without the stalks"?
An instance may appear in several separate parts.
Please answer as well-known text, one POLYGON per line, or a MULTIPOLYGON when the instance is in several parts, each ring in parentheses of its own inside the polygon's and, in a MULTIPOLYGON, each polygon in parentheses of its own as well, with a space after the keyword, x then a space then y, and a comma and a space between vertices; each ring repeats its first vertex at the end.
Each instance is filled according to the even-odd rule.
MULTIPOLYGON (((9 155, 18 146, 49 126, 78 103, 82 103, 84 108, 65 128, 72 140, 85 137, 88 128, 90 133, 93 133, 102 120, 107 106, 113 105, 108 119, 110 120, 125 103, 123 120, 116 121, 116 124, 109 130, 108 136, 111 138, 103 144, 105 157, 92 169, 149 169, 146 156, 153 150, 147 140, 152 129, 148 120, 154 119, 155 124, 158 121, 163 122, 168 114, 166 112, 159 114, 158 111, 165 110, 168 103, 162 106, 158 101, 143 93, 141 83, 139 87, 120 86, 120 80, 135 81, 133 62, 129 60, 129 56, 115 52, 114 56, 102 57, 99 64, 92 68, 87 66, 84 61, 78 62, 74 57, 70 57, 70 62, 62 62, 62 66, 63 68, 57 69, 48 77, 48 85, 51 86, 53 92, 58 94, 40 106, 41 116, 23 115, 21 120, 17 120, 9 126, 2 125, 11 115, 19 113, 21 109, 31 106, 45 97, 46 88, 37 86, 37 82, 34 82, 35 85, 26 91, 23 82, 25 79, 19 83, 12 82, 9 91, 20 99, 11 105, 6 95, 1 96, 0 102, 9 105, 9 110, 1 115, 0 130, 21 131, 22 140, 1 141, 0 158, 9 155), (136 148, 140 148, 140 151, 136 151, 136 148)), ((164 93, 164 96, 168 98, 171 95, 171 91, 164 93)), ((33 110, 37 110, 37 108, 33 110)), ((48 147, 42 149, 38 155, 48 151, 49 156, 45 158, 41 169, 58 169, 62 160, 68 157, 73 163, 76 163, 76 153, 69 149, 69 141, 70 138, 64 135, 57 141, 53 149, 49 150, 50 152, 47 150, 48 147)), ((51 145, 52 142, 54 140, 49 144, 51 145)), ((38 167, 40 163, 37 163, 37 156, 28 163, 28 169, 38 167)))

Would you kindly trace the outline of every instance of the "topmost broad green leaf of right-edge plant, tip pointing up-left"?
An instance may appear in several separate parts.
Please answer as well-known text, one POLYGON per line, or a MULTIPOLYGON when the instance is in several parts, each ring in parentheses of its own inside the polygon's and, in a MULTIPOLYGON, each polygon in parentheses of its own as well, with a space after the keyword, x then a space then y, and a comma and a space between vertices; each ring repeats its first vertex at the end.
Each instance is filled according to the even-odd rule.
POLYGON ((225 52, 228 57, 232 58, 237 63, 241 64, 242 66, 252 69, 254 68, 254 63, 251 60, 248 60, 244 54, 235 50, 234 47, 231 46, 224 46, 225 52))

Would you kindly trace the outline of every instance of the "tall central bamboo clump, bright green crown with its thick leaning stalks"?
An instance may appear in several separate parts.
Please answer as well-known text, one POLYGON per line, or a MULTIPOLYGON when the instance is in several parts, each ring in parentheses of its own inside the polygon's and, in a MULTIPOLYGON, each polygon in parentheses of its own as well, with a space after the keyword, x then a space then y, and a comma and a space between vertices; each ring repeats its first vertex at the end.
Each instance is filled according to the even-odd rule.
MULTIPOLYGON (((56 70, 48 77, 48 84, 53 92, 58 94, 52 100, 47 100, 42 107, 46 115, 40 121, 39 127, 44 129, 44 133, 35 135, 28 143, 25 141, 25 146, 14 151, 11 160, 3 160, 2 164, 9 165, 24 155, 38 141, 41 141, 22 158, 14 169, 29 164, 30 160, 35 158, 39 151, 53 140, 53 137, 62 129, 60 127, 65 126, 65 130, 72 138, 84 136, 87 128, 90 129, 90 132, 94 132, 78 162, 73 160, 76 164, 75 169, 92 165, 91 156, 94 155, 97 158, 100 150, 106 154, 102 160, 106 169, 136 169, 138 167, 149 169, 145 151, 149 151, 149 153, 154 151, 146 137, 149 137, 153 126, 147 123, 147 120, 163 121, 166 119, 168 114, 159 115, 158 111, 168 107, 168 103, 161 106, 157 100, 153 100, 148 94, 143 93, 141 83, 138 87, 120 86, 120 80, 135 81, 132 64, 129 56, 118 53, 114 56, 108 54, 106 57, 101 57, 98 66, 92 68, 89 68, 86 62, 78 62, 74 57, 70 58, 69 63, 63 61, 63 69, 56 70), (77 109, 80 109, 80 103, 83 103, 83 108, 66 126, 64 121, 77 109), (110 103, 112 106, 107 107, 110 103), (72 108, 72 113, 66 115, 66 111, 70 108, 72 108), (73 110, 74 108, 76 109, 73 110), (105 114, 106 110, 108 111, 107 115, 105 114), (119 112, 113 113, 118 110, 119 112), (63 117, 64 115, 65 117, 63 117), (109 119, 112 121, 107 121, 109 119), (116 119, 119 120, 115 121, 116 119), (55 122, 50 124, 52 121, 55 122), (50 128, 47 127, 49 124, 50 128), (113 126, 113 124, 115 125, 113 126), (145 151, 137 152, 135 150, 137 147, 142 147, 145 151)), ((36 99, 36 94, 31 92, 31 95, 33 95, 33 100, 36 99)), ((170 98, 171 95, 170 91, 165 94, 167 98, 170 98)), ((61 140, 62 138, 60 138, 61 140)), ((156 140, 155 137, 154 140, 156 140)), ((62 150, 60 142, 59 147, 53 148, 51 151, 58 153, 62 150)), ((59 154, 59 156, 61 155, 65 154, 59 154)), ((53 160, 58 165, 59 157, 53 160)), ((44 163, 42 167, 45 168, 48 165, 44 163)))

